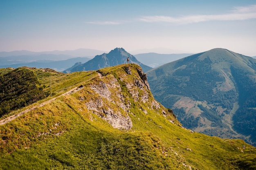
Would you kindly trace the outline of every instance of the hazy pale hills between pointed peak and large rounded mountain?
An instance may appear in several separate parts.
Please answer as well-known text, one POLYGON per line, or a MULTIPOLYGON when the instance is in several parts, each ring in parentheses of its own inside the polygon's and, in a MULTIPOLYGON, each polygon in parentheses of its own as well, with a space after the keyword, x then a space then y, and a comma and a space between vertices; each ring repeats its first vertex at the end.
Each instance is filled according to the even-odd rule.
POLYGON ((175 60, 179 60, 183 57, 187 57, 192 54, 158 54, 158 53, 143 53, 143 54, 136 54, 134 55, 137 60, 155 68, 157 66, 161 66, 163 64, 173 62, 175 60))

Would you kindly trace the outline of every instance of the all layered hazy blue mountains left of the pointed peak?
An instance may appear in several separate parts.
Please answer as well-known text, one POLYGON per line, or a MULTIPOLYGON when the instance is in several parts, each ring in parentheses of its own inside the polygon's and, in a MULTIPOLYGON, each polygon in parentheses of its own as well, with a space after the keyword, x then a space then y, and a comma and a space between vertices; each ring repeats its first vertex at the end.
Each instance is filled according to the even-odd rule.
POLYGON ((64 71, 76 62, 87 62, 95 55, 105 51, 94 49, 77 49, 66 51, 11 51, 0 52, 0 68, 18 68, 21 66, 36 68, 52 68, 64 71))

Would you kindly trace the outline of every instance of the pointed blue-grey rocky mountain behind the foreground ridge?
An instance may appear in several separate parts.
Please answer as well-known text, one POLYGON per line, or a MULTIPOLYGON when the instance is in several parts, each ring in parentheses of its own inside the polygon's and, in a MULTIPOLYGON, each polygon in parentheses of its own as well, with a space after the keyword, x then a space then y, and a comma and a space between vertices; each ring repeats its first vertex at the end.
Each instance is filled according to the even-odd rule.
POLYGON ((139 66, 141 66, 144 72, 152 69, 151 67, 139 62, 133 55, 125 51, 123 48, 115 48, 114 50, 111 50, 109 53, 96 55, 92 60, 89 60, 84 64, 68 68, 67 70, 63 71, 63 73, 72 73, 74 71, 98 70, 100 68, 125 64, 127 63, 128 57, 129 63, 138 64, 139 66))

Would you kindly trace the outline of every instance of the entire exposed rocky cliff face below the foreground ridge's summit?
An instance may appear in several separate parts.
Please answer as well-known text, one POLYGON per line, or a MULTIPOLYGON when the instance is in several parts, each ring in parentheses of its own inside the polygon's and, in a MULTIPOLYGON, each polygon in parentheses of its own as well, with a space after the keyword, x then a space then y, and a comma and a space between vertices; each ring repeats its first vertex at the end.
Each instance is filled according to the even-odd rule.
MULTIPOLYGON (((120 77, 99 74, 100 81, 96 81, 96 84, 90 86, 95 93, 95 98, 86 102, 85 106, 114 128, 124 130, 132 128, 132 121, 128 115, 131 106, 130 99, 132 102, 139 102, 139 104, 148 102, 147 108, 142 106, 139 108, 146 115, 148 114, 147 109, 160 111, 161 108, 155 99, 151 99, 146 74, 140 68, 136 68, 135 72, 132 71, 132 65, 126 65, 123 72, 120 72, 120 77), (126 94, 123 95, 123 93, 126 94)), ((164 110, 157 114, 161 113, 166 117, 164 110)))

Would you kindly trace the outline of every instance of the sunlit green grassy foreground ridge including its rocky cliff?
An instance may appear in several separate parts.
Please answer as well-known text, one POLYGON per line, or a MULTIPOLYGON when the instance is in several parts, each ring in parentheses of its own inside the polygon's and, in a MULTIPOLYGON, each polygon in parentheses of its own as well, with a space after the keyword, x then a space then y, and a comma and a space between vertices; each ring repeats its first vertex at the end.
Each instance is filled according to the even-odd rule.
POLYGON ((1 118, 0 169, 256 169, 256 148, 243 140, 182 128, 136 64, 27 69, 48 95, 1 118))

